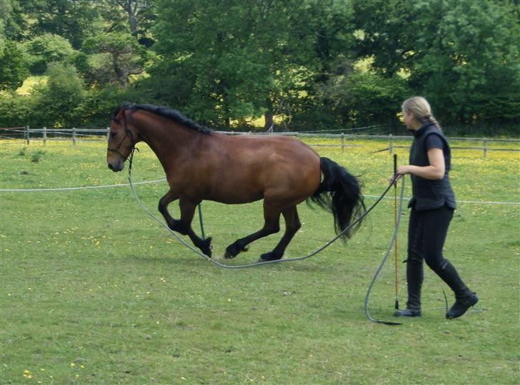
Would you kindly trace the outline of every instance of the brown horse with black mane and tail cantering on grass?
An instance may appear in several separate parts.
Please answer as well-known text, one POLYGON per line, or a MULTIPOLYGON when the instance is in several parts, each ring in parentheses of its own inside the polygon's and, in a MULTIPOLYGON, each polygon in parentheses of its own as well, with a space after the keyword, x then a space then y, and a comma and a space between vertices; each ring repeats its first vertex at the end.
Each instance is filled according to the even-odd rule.
MULTIPOLYGON (((109 168, 123 170, 124 161, 141 140, 159 158, 170 187, 159 200, 159 212, 171 230, 188 235, 209 257, 211 238, 203 240, 191 228, 202 200, 226 204, 264 200, 264 227, 229 245, 226 258, 246 251, 261 237, 279 232, 280 215, 284 215, 285 234, 274 250, 261 255, 263 261, 279 260, 284 255, 301 227, 296 210, 300 202, 310 198, 331 211, 336 232, 344 231, 353 217, 365 210, 356 178, 294 138, 215 133, 166 107, 124 103, 111 118, 106 154, 109 168), (177 199, 180 220, 167 210, 177 199)), ((353 230, 345 231, 342 237, 349 238, 353 230)))

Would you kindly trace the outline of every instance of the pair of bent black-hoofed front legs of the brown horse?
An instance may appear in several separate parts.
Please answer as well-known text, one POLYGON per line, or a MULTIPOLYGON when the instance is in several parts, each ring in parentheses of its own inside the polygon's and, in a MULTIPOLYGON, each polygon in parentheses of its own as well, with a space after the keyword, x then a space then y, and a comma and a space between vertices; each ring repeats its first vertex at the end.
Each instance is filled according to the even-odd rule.
POLYGON ((191 229, 191 221, 193 220, 197 204, 181 198, 181 200, 179 200, 179 207, 181 208, 181 219, 176 220, 171 217, 168 211, 168 205, 170 202, 177 199, 179 199, 179 195, 176 194, 173 190, 169 190, 169 192, 159 200, 159 212, 161 212, 164 220, 166 220, 166 223, 171 230, 179 232, 179 234, 182 235, 188 235, 191 242, 193 242, 196 247, 199 247, 201 252, 203 252, 208 257, 211 257, 211 237, 202 240, 195 234, 193 229, 191 229))

